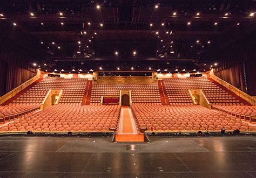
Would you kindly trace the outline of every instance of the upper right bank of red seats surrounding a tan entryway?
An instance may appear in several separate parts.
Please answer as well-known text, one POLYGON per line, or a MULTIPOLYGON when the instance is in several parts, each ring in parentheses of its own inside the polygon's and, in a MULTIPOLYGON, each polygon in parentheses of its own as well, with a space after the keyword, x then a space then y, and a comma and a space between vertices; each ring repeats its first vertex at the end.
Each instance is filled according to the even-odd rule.
POLYGON ((188 77, 186 79, 164 79, 164 86, 169 97, 170 104, 192 103, 188 89, 203 90, 211 104, 218 105, 244 105, 228 92, 205 77, 188 77))

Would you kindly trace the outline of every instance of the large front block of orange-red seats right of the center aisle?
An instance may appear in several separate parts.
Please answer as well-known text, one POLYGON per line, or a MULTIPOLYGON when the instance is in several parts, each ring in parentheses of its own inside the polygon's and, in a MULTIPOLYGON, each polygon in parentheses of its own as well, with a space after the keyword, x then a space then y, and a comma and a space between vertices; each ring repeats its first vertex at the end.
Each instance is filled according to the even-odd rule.
POLYGON ((155 131, 226 130, 253 131, 256 128, 224 112, 199 105, 167 106, 133 104, 139 128, 155 131))

